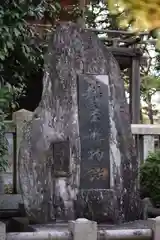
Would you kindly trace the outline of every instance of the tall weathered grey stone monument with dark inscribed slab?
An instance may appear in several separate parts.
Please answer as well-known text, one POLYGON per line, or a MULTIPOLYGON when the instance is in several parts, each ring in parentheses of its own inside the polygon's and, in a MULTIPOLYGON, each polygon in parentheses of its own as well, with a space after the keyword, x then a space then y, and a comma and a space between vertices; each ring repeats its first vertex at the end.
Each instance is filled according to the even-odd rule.
POLYGON ((57 25, 42 99, 24 128, 20 187, 35 222, 140 216, 138 162, 118 64, 90 31, 57 25))

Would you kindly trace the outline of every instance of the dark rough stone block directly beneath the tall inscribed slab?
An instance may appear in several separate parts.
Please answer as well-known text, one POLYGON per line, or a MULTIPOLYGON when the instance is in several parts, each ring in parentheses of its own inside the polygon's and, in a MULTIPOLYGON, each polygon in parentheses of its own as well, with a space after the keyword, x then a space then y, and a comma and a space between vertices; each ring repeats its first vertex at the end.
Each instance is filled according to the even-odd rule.
POLYGON ((75 203, 76 218, 98 223, 119 223, 118 201, 111 189, 80 190, 75 203))

